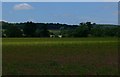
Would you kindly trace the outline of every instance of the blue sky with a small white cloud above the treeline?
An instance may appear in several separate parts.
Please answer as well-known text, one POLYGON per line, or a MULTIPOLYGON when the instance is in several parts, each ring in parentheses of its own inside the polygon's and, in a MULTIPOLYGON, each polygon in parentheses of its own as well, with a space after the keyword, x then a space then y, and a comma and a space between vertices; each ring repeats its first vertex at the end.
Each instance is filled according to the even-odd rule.
POLYGON ((117 2, 3 2, 2 20, 79 24, 118 23, 117 2))

